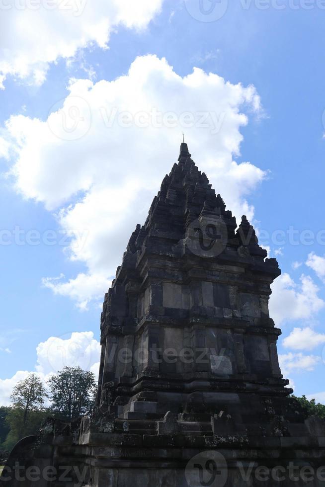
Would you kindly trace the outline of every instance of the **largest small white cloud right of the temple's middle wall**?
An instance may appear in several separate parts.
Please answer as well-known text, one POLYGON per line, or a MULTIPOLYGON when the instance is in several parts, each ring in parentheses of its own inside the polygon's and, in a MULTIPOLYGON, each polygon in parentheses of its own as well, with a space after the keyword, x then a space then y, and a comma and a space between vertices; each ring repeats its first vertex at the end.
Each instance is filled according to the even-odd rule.
POLYGON ((320 290, 310 276, 303 274, 297 284, 285 273, 275 279, 271 287, 270 316, 276 325, 311 319, 325 306, 318 296, 320 290))

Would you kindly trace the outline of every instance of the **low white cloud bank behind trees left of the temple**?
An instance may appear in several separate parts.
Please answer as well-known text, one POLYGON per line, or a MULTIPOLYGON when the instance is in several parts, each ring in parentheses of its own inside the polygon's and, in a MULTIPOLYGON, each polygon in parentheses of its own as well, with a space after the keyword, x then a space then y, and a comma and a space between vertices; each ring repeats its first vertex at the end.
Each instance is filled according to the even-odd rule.
MULTIPOLYGON (((62 337, 51 336, 36 348, 36 375, 44 382, 63 367, 80 366, 83 370, 99 371, 100 343, 92 331, 67 333, 62 337)), ((25 379, 28 371, 18 371, 9 379, 0 379, 0 406, 10 405, 10 394, 14 386, 25 379)))

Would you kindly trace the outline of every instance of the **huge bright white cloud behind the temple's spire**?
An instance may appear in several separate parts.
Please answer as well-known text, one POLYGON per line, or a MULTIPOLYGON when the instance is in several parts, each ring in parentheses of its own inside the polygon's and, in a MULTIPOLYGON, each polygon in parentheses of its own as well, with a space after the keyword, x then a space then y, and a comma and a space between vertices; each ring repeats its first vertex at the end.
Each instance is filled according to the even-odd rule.
POLYGON ((72 237, 70 258, 86 272, 46 278, 81 309, 102 299, 137 223, 177 159, 182 131, 193 159, 237 217, 253 217, 247 195, 266 173, 238 163, 241 128, 261 116, 253 86, 195 68, 177 75, 165 59, 137 58, 114 81, 72 81, 48 120, 12 116, 2 138, 17 190, 55 210, 72 237), (86 236, 82 238, 80 236, 86 236))

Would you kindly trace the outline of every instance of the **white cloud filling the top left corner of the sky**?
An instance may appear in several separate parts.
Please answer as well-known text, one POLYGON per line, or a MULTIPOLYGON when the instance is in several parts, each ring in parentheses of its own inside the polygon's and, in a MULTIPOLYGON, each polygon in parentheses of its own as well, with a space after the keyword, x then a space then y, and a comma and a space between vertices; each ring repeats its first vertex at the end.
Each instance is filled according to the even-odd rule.
POLYGON ((28 7, 27 1, 17 8, 17 3, 6 2, 8 7, 1 8, 2 89, 7 75, 41 84, 50 63, 92 45, 107 48, 110 34, 119 26, 144 29, 160 12, 163 0, 44 0, 36 2, 36 8, 28 7))

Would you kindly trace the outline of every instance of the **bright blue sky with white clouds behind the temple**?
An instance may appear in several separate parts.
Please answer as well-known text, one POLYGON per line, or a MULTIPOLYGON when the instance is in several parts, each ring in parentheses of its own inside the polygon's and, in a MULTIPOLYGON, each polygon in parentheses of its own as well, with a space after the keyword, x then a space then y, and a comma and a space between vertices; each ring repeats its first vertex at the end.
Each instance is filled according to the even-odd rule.
MULTIPOLYGON (((231 115, 231 123, 221 127, 220 137, 209 128, 197 127, 185 129, 185 136, 194 161, 207 172, 236 216, 247 209, 260 232, 286 233, 290 227, 296 232, 295 244, 289 242, 288 235, 281 244, 274 238, 261 239, 271 256, 277 256, 284 274, 274 289, 271 309, 276 325, 283 330, 279 352, 284 374, 294 382, 296 394, 317 395, 325 402, 325 239, 316 238, 325 228, 322 2, 270 1, 263 10, 257 1, 229 2, 225 14, 214 21, 211 15, 202 17, 199 0, 140 3, 136 20, 124 10, 117 12, 118 17, 113 1, 100 1, 95 6, 87 3, 77 17, 89 33, 86 43, 80 40, 83 31, 78 34, 75 23, 71 33, 56 16, 53 25, 64 47, 52 54, 54 62, 39 48, 39 43, 51 46, 55 42, 51 32, 48 38, 30 42, 27 51, 27 27, 16 39, 9 32, 3 34, 0 73, 2 70, 6 78, 0 90, 0 212, 1 229, 11 233, 11 244, 0 245, 0 399, 5 404, 10 387, 35 366, 44 375, 51 367, 60 366, 59 360, 48 360, 50 337, 59 337, 69 349, 71 333, 81 333, 78 356, 86 356, 85 365, 95 370, 103 290, 121 260, 129 234, 137 223, 143 223, 160 180, 177 157, 180 126, 163 127, 157 133, 151 128, 146 132, 138 127, 117 127, 108 133, 98 125, 98 131, 95 109, 115 97, 114 102, 123 103, 130 112, 139 111, 143 103, 144 110, 151 104, 179 114, 181 110, 199 110, 202 105, 202 110, 211 107, 225 113, 226 120, 231 115), (307 9, 308 5, 313 8, 307 9), (105 38, 103 28, 99 38, 95 20, 92 25, 87 20, 87 9, 92 10, 95 20, 109 19, 109 36, 105 38), (74 35, 75 47, 68 52, 70 35, 74 35), (103 48, 105 43, 107 48, 103 48), (8 50, 20 64, 8 65, 8 50), (142 61, 130 74, 137 57, 142 61), (186 77, 194 67, 205 74, 191 78, 189 87, 186 77), (208 73, 230 85, 217 79, 209 85, 208 73), (121 76, 126 83, 110 83, 121 76), (142 76, 142 88, 133 93, 142 76), (76 80, 85 80, 87 87, 76 80), (241 87, 235 88, 238 83, 241 87), (69 85, 73 86, 71 91, 69 85), (249 85, 254 91, 249 91, 249 85), (62 144, 60 138, 52 140, 46 132, 51 128, 49 113, 58 113, 64 100, 82 98, 82 93, 87 96, 85 109, 90 107, 91 127, 76 140, 62 144), (134 97, 139 99, 136 108, 134 97), (245 114, 247 123, 240 120, 240 113, 245 114), (32 142, 30 130, 39 133, 32 142), (237 162, 235 169, 232 161, 237 162), (243 173, 240 164, 247 161, 250 166, 243 173), (135 189, 138 183, 141 195, 135 189), (116 193, 106 200, 106 192, 112 190, 116 193), (130 194, 128 200, 126 195, 130 194), (106 204, 114 207, 113 215, 103 211, 106 204), (82 220, 83 211, 89 215, 87 224, 82 220), (110 225, 112 232, 103 233, 110 225), (81 250, 71 243, 77 227, 94 235, 81 250), (14 229, 16 233, 24 231, 23 244, 17 240, 19 235, 12 236, 14 229), (63 229, 72 232, 64 243, 59 242, 63 229), (46 231, 56 232, 56 242, 31 245, 26 232, 34 230, 41 238, 46 231), (313 233, 311 244, 306 244, 304 231, 313 233), (75 283, 80 275, 86 277, 75 283), (69 280, 73 282, 67 287, 69 280), (40 343, 43 345, 38 347, 40 343)), ((7 30, 16 28, 21 14, 14 2, 12 5, 11 10, 2 12, 3 19, 10 16, 7 30)), ((226 1, 214 5, 205 0, 204 5, 211 6, 215 15, 226 1)), ((42 28, 51 21, 51 14, 46 12, 42 28)), ((35 20, 35 25, 41 22, 34 11, 27 11, 27 17, 35 20)), ((65 22, 69 25, 70 20, 65 22)), ((282 239, 280 234, 278 239, 282 239)))

